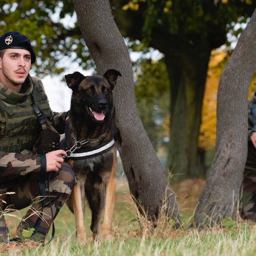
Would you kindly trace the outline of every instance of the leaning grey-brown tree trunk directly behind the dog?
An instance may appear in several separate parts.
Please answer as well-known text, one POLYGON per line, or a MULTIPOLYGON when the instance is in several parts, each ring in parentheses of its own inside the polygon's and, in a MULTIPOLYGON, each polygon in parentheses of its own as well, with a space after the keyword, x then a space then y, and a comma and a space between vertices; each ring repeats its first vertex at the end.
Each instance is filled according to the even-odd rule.
MULTIPOLYGON (((132 195, 148 218, 154 220, 163 201, 167 178, 137 114, 128 49, 111 15, 109 1, 75 0, 74 6, 98 73, 111 68, 122 73, 113 91, 117 148, 132 195)), ((168 198, 169 217, 179 221, 179 209, 170 187, 168 198)))

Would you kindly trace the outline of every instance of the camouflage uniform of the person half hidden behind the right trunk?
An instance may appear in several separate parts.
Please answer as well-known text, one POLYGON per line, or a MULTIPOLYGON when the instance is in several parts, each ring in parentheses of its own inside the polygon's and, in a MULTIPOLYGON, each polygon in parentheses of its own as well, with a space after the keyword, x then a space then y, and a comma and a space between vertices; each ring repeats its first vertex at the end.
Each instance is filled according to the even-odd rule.
POLYGON ((248 104, 248 153, 241 186, 241 216, 256 222, 256 148, 250 140, 256 132, 256 93, 248 104))

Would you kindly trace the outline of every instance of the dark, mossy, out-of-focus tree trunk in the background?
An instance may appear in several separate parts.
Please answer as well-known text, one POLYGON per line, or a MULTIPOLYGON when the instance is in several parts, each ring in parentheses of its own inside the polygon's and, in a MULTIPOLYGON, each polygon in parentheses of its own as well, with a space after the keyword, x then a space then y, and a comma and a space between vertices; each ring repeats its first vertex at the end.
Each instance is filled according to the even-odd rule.
MULTIPOLYGON (((179 42, 165 57, 170 80, 171 125, 168 168, 172 180, 200 177, 198 134, 210 47, 179 42), (181 48, 183 45, 183 49, 181 48)), ((168 51, 167 51, 168 52, 168 51)))

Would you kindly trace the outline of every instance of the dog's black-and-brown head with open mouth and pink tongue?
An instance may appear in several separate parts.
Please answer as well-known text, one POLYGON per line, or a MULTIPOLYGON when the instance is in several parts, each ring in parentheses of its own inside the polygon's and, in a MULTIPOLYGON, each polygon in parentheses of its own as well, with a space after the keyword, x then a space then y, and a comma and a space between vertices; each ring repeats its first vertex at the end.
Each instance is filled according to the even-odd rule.
POLYGON ((112 90, 119 71, 110 69, 103 76, 83 76, 79 72, 65 75, 67 86, 73 91, 71 109, 87 113, 94 122, 103 122, 112 107, 112 90))

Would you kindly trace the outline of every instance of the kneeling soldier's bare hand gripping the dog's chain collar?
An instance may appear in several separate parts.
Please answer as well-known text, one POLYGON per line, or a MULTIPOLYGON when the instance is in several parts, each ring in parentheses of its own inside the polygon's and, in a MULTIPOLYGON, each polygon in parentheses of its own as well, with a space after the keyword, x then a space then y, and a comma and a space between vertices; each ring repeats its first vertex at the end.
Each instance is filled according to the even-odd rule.
POLYGON ((67 153, 64 150, 55 150, 49 152, 46 155, 46 171, 58 171, 61 168, 61 163, 63 163, 64 159, 62 156, 67 156, 67 153))

